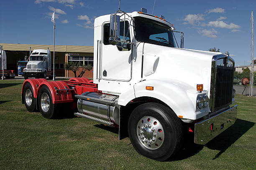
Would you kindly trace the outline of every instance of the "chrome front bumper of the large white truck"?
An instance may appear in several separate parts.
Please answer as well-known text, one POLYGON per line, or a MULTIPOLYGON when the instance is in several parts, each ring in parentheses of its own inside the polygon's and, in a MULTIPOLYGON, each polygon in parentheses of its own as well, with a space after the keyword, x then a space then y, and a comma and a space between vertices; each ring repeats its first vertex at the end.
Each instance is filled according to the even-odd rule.
POLYGON ((236 121, 237 105, 218 113, 210 118, 195 123, 195 138, 197 144, 206 144, 236 121))

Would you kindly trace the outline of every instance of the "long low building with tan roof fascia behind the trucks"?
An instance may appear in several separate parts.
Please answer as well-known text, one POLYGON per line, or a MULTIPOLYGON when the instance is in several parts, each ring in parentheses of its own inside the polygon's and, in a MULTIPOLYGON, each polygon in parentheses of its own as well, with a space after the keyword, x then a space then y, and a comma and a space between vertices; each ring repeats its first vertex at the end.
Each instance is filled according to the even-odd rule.
MULTIPOLYGON (((6 52, 6 64, 8 70, 16 70, 17 62, 24 60, 25 56, 29 56, 29 50, 34 49, 46 49, 49 47, 51 51, 51 61, 53 62, 53 45, 34 45, 34 44, 7 44, 0 43, 3 45, 3 50, 6 52)), ((93 66, 93 46, 79 46, 79 45, 55 45, 55 72, 56 76, 61 77, 74 77, 72 71, 64 69, 65 62, 79 62, 80 64, 93 66)), ((53 63, 52 67, 53 67, 53 63)), ((93 70, 86 71, 83 77, 92 78, 93 70)), ((78 72, 77 72, 78 73, 78 72)), ((78 75, 78 74, 77 74, 78 75)))

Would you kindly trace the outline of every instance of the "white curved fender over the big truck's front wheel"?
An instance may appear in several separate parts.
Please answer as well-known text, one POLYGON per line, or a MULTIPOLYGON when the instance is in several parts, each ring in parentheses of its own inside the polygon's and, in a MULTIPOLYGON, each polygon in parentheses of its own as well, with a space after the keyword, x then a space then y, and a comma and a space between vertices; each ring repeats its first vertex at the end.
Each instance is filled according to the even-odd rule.
POLYGON ((125 90, 119 96, 118 104, 126 106, 131 101, 149 97, 154 101, 171 108, 178 117, 196 119, 195 105, 197 91, 184 82, 173 80, 145 80, 125 90), (154 90, 146 90, 146 86, 154 87, 154 90), (164 89, 164 90, 163 90, 164 89), (193 100, 193 101, 192 101, 193 100))

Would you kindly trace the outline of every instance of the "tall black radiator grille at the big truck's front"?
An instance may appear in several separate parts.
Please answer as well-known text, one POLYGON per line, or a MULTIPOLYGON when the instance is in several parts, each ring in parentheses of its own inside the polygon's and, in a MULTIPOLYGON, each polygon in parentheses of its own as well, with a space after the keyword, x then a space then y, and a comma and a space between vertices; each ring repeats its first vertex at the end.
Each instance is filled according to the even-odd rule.
POLYGON ((225 107, 232 102, 233 67, 217 65, 215 88, 215 109, 225 107))

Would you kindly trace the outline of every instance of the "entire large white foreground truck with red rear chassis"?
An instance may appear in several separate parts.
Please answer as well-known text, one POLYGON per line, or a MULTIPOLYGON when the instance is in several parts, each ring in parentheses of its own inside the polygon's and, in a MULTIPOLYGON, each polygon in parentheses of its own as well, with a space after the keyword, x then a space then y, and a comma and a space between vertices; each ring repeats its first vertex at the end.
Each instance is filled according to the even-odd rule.
POLYGON ((183 36, 179 45, 173 32, 162 16, 145 11, 100 16, 93 80, 28 79, 22 102, 46 118, 78 109, 74 115, 119 128, 120 140, 129 137, 155 160, 177 153, 186 133, 204 145, 236 121, 235 62, 228 52, 184 49, 183 36))

